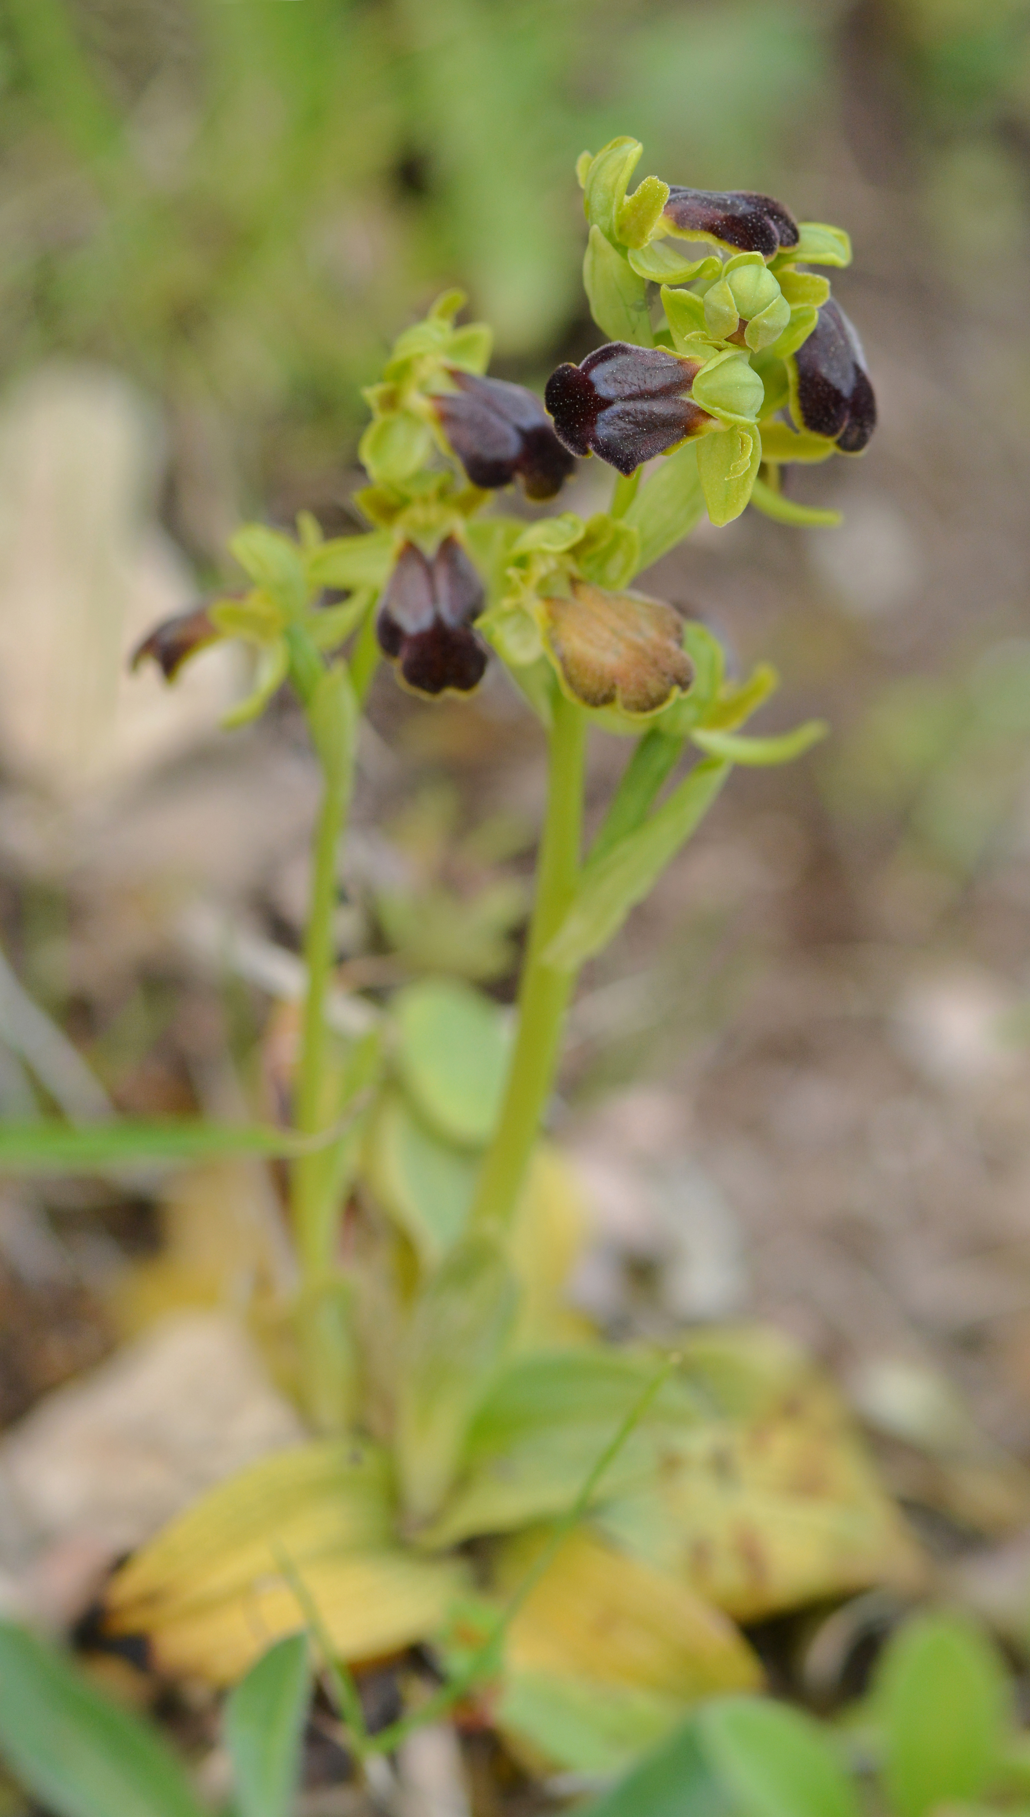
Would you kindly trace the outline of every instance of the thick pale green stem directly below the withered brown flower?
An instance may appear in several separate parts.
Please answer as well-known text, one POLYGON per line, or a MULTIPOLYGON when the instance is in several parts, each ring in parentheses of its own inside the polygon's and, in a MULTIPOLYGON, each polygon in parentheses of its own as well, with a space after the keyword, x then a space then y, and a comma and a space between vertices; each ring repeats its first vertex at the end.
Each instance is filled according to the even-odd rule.
POLYGON ((576 983, 543 963, 579 878, 587 716, 554 690, 547 819, 540 845, 536 903, 518 1003, 518 1036, 498 1128, 483 1157, 472 1223, 510 1223, 561 1052, 565 1010, 576 983))

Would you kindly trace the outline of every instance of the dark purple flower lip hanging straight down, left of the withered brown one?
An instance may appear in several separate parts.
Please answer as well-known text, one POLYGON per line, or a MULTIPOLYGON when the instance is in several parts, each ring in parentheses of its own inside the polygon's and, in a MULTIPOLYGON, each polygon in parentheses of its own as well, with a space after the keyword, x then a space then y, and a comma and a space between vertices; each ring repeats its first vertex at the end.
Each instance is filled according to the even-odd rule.
POLYGON ((405 543, 376 618, 380 649, 416 694, 470 694, 487 667, 470 629, 481 611, 483 583, 461 543, 445 536, 432 561, 405 543))

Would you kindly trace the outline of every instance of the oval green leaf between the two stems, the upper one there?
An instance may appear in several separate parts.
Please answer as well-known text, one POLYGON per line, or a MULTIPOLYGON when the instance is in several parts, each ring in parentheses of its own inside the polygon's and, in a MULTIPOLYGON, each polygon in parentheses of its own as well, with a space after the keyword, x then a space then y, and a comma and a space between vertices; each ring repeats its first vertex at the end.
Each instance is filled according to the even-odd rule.
POLYGON ((447 1141, 481 1148, 509 1070, 505 1012, 481 990, 443 978, 407 985, 392 1012, 400 1074, 418 1110, 447 1141))

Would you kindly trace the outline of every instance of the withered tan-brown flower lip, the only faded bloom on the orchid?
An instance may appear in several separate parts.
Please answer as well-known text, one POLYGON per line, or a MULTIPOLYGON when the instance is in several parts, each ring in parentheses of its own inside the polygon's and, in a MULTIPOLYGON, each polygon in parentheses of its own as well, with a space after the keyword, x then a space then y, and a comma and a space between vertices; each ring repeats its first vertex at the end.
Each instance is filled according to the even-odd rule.
POLYGON ((639 592, 574 580, 541 601, 543 636, 569 692, 583 707, 658 712, 692 680, 679 614, 639 592))

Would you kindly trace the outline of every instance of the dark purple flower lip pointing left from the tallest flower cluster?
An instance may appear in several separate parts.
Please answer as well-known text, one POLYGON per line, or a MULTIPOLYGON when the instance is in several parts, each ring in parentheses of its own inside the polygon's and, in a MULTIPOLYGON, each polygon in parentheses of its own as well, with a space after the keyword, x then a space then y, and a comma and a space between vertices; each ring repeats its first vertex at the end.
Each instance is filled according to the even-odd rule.
POLYGON ((699 369, 699 360, 681 360, 661 347, 609 342, 581 365, 554 369, 547 409, 572 454, 594 452, 630 474, 712 422, 688 396, 699 369))

